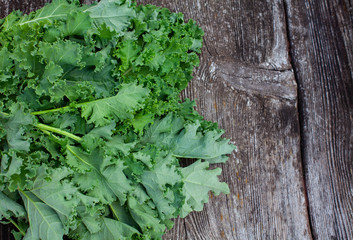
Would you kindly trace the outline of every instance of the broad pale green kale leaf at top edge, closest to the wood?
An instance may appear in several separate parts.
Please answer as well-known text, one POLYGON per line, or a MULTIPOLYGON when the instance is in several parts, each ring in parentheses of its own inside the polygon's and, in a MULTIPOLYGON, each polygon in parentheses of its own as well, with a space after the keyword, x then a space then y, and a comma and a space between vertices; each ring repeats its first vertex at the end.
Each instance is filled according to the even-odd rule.
POLYGON ((102 0, 84 10, 84 12, 89 13, 97 26, 105 24, 119 34, 128 27, 130 19, 135 16, 135 11, 129 7, 128 3, 121 5, 121 2, 118 0, 102 0))

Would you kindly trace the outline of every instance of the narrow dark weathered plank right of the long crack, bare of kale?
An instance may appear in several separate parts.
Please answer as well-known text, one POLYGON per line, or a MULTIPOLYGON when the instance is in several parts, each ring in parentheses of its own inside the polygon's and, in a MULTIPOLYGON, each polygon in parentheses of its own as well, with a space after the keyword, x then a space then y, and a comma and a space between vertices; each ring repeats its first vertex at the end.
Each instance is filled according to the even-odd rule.
POLYGON ((286 0, 315 239, 353 239, 353 4, 286 0))

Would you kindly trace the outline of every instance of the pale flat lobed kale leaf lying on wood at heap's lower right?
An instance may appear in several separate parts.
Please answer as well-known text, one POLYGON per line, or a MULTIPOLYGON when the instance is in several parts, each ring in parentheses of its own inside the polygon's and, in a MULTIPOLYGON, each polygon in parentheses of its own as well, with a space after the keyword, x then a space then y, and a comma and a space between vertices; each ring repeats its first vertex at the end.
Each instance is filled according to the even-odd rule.
POLYGON ((181 217, 186 217, 191 211, 201 211, 204 203, 208 202, 208 192, 212 191, 216 196, 220 193, 229 194, 228 185, 219 182, 218 175, 222 169, 208 170, 209 163, 201 160, 182 168, 183 195, 185 203, 181 209, 181 217))

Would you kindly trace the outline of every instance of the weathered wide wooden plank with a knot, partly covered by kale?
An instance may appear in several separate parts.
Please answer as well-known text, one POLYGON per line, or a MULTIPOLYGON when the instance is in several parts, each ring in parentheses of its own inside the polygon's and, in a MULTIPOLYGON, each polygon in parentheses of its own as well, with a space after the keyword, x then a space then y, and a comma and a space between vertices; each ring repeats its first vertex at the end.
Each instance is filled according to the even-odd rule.
MULTIPOLYGON (((203 27, 201 65, 182 97, 197 99, 198 111, 239 147, 219 164, 231 194, 211 195, 204 211, 176 219, 164 239, 310 239, 283 2, 138 2, 183 12, 203 27)), ((0 14, 9 4, 29 11, 42 3, 2 1, 0 14)))

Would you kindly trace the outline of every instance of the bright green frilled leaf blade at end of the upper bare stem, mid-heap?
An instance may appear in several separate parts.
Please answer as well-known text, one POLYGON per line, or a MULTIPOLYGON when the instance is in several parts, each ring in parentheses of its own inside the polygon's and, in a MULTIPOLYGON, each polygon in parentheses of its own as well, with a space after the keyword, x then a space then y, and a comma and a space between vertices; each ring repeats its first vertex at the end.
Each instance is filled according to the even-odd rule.
POLYGON ((86 118, 88 123, 103 126, 112 120, 133 118, 134 111, 143 106, 143 100, 148 93, 148 89, 134 83, 124 84, 114 97, 81 103, 77 107, 82 108, 82 117, 86 118))

